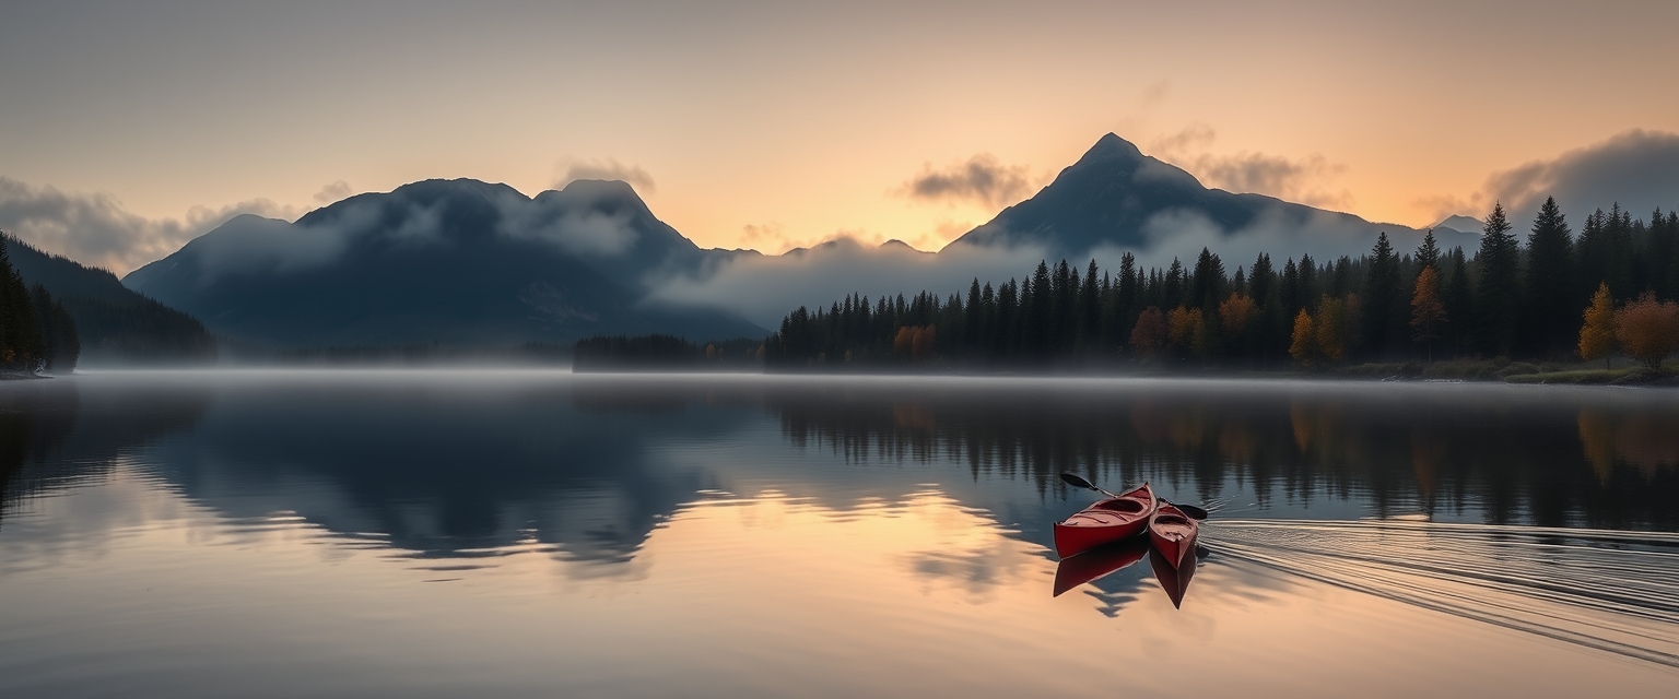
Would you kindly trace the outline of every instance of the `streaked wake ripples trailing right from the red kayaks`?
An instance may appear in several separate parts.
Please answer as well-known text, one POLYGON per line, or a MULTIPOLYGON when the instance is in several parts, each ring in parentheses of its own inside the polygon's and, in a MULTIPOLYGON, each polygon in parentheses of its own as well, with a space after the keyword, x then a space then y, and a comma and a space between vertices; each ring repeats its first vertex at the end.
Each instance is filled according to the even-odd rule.
POLYGON ((1224 520, 1206 541, 1234 560, 1679 669, 1679 533, 1224 520))

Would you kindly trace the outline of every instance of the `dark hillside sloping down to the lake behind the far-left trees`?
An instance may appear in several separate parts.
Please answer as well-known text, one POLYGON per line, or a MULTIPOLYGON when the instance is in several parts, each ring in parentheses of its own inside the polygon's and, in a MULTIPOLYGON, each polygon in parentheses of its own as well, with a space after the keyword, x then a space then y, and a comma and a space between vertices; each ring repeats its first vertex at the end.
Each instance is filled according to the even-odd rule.
POLYGON ((12 236, 5 250, 25 285, 45 287, 71 313, 82 344, 81 365, 215 360, 217 342, 203 324, 134 293, 116 275, 12 236))

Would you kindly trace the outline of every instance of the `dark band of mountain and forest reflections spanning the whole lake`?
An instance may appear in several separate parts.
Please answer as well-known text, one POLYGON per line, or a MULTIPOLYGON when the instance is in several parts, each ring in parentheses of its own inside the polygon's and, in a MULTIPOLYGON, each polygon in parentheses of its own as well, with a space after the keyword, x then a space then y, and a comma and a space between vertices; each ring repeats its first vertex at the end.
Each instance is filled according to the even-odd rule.
POLYGON ((534 538, 626 562, 695 493, 752 469, 841 508, 907 493, 881 489, 895 481, 881 471, 776 469, 791 448, 962 468, 969 505, 1039 543, 1064 516, 1053 503, 1085 496, 1059 471, 1231 500, 1226 516, 1679 530, 1679 404, 1664 392, 331 372, 27 384, 0 391, 0 520, 116 454, 228 516, 294 513, 421 557, 534 538))

